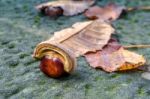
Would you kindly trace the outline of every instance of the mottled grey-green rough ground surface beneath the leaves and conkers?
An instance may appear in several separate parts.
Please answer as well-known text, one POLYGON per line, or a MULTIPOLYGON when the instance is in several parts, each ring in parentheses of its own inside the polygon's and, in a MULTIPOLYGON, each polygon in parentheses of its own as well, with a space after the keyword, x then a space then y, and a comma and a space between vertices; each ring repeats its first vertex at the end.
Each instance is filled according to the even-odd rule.
MULTIPOLYGON (((46 0, 45 0, 46 1, 46 0)), ((110 0, 125 6, 150 5, 149 0, 110 0)), ((78 58, 75 72, 51 79, 31 55, 54 31, 84 21, 83 15, 57 20, 34 9, 43 0, 0 0, 0 99, 150 99, 150 81, 142 72, 105 73, 78 58)), ((99 0, 104 5, 108 0, 99 0)), ((122 44, 150 43, 150 12, 135 11, 114 23, 122 44)), ((150 64, 150 49, 134 49, 150 64)))

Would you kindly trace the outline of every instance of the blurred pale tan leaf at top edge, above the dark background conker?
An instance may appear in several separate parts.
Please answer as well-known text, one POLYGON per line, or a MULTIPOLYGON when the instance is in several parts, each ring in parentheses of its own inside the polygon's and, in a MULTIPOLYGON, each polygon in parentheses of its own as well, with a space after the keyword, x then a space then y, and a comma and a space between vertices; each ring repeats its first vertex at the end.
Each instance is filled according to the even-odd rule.
MULTIPOLYGON (((53 13, 53 10, 63 10, 63 15, 65 16, 72 16, 77 15, 79 13, 84 12, 86 9, 88 9, 91 5, 95 3, 95 0, 81 0, 81 1, 75 1, 75 0, 58 0, 58 1, 52 1, 40 4, 36 6, 36 9, 43 11, 46 8, 48 8, 49 11, 53 13), (61 8, 61 9, 58 9, 61 8)), ((47 11, 46 11, 47 12, 47 11)), ((50 13, 48 15, 51 15, 50 13)), ((60 11, 54 11, 54 13, 57 13, 60 11)), ((53 13, 53 15, 54 15, 53 13)), ((58 14, 59 14, 58 13, 58 14)))

